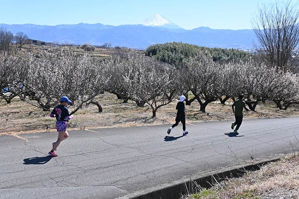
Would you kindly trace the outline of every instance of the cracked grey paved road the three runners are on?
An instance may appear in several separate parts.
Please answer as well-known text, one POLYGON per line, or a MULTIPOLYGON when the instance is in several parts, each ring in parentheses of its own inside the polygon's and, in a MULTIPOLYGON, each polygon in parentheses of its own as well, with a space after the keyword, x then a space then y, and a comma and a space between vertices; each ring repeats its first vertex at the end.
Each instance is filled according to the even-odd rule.
POLYGON ((57 132, 0 136, 0 198, 115 199, 299 149, 299 117, 244 120, 238 136, 231 122, 71 131, 52 159, 57 132))

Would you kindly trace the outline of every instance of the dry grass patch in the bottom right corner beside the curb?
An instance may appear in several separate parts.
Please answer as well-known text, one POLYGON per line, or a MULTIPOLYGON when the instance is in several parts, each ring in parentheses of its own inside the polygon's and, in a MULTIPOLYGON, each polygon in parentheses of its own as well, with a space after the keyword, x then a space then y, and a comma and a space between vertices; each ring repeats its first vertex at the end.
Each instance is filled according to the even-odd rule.
POLYGON ((259 171, 223 181, 185 199, 299 199, 299 154, 287 155, 259 171))

